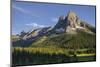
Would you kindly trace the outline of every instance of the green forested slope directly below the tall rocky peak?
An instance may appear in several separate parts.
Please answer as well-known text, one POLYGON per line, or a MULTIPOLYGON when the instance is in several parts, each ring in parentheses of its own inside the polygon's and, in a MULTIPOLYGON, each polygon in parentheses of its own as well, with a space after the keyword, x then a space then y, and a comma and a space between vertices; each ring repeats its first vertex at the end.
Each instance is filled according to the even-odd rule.
POLYGON ((78 34, 58 34, 43 36, 32 43, 30 47, 60 47, 67 49, 95 48, 95 34, 79 32, 78 34))

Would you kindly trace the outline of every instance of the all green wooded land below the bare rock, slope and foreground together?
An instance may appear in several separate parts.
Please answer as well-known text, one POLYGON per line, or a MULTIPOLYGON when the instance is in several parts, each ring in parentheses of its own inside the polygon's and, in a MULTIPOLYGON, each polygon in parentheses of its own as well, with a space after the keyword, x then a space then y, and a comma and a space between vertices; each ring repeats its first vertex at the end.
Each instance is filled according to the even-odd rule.
POLYGON ((57 34, 36 39, 28 47, 13 48, 13 64, 51 64, 95 61, 95 34, 57 34))

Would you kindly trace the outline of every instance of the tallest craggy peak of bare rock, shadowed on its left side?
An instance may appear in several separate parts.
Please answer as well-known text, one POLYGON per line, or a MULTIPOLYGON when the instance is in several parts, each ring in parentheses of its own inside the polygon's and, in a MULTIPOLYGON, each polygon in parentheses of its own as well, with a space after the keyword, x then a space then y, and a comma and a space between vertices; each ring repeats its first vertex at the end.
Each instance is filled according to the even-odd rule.
POLYGON ((77 33, 80 30, 93 33, 91 30, 89 30, 89 26, 89 24, 79 19, 75 12, 69 11, 67 16, 59 17, 58 23, 54 26, 53 30, 59 33, 66 32, 70 34, 77 33))

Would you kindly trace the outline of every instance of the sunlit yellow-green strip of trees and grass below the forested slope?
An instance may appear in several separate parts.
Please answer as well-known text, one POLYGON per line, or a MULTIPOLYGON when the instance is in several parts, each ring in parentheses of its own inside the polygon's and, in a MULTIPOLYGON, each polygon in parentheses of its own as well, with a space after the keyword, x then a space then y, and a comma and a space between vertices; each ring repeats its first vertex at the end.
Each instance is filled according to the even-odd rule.
POLYGON ((15 51, 25 51, 28 53, 42 53, 42 54, 64 54, 66 56, 94 56, 95 49, 66 49, 66 48, 58 48, 58 47, 16 47, 13 48, 13 52, 15 51))

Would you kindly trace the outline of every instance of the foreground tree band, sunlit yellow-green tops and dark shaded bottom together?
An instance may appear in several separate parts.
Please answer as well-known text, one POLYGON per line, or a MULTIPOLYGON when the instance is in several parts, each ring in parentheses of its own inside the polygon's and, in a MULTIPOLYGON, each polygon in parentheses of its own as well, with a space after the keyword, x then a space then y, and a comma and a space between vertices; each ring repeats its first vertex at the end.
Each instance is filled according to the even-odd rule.
POLYGON ((95 53, 86 53, 87 49, 67 50, 55 47, 16 47, 12 50, 12 62, 15 66, 95 60, 95 53), (81 51, 81 53, 78 51, 81 51))

